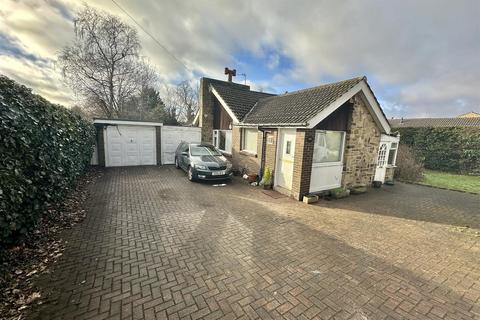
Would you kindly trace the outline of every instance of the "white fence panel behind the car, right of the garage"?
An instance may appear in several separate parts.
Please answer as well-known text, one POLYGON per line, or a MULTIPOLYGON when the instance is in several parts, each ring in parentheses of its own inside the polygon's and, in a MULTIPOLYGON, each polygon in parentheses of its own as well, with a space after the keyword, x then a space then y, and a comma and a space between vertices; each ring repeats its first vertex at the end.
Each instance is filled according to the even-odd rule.
POLYGON ((200 142, 201 128, 197 127, 162 127, 162 164, 175 163, 175 150, 182 141, 200 142))

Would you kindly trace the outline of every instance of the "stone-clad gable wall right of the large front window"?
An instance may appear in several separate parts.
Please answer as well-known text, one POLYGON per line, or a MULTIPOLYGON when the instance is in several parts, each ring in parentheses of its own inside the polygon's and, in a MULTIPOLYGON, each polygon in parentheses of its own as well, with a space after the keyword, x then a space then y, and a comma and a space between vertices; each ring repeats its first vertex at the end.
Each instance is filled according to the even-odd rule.
POLYGON ((360 94, 354 96, 345 140, 342 186, 370 185, 380 144, 380 129, 360 94))

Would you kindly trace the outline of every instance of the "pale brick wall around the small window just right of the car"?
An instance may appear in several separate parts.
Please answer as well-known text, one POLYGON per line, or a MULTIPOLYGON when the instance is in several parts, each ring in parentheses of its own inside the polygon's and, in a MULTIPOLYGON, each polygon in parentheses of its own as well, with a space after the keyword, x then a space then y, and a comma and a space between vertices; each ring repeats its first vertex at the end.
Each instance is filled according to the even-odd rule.
POLYGON ((253 174, 260 171, 260 161, 262 159, 262 139, 263 134, 258 131, 257 137, 257 154, 248 154, 241 151, 241 128, 234 126, 232 128, 232 164, 234 169, 242 172, 244 169, 247 173, 253 174))

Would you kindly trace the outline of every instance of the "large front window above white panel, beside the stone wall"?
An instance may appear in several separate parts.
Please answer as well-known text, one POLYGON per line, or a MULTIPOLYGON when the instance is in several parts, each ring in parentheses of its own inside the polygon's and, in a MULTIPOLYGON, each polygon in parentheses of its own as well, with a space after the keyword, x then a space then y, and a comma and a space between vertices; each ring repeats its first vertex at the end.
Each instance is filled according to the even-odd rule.
POLYGON ((342 131, 316 131, 313 163, 341 162, 344 136, 342 131))

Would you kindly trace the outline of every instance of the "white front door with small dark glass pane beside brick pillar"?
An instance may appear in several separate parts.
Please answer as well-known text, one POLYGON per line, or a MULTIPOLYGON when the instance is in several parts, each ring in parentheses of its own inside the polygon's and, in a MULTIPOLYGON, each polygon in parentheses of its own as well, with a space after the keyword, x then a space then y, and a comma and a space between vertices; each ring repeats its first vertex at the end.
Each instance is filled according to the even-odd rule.
POLYGON ((287 190, 292 190, 295 136, 295 129, 279 129, 275 184, 287 190))

